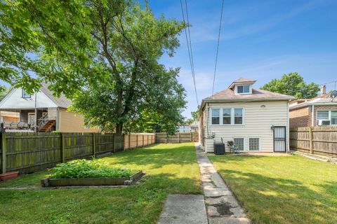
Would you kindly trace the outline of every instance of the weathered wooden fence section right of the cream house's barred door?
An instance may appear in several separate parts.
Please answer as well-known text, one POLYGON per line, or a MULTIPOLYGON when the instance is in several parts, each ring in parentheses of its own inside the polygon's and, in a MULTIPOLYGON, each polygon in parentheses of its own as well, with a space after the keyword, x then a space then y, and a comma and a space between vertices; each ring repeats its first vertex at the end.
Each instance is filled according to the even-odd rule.
POLYGON ((337 158, 337 127, 298 127, 290 130, 290 148, 337 158))

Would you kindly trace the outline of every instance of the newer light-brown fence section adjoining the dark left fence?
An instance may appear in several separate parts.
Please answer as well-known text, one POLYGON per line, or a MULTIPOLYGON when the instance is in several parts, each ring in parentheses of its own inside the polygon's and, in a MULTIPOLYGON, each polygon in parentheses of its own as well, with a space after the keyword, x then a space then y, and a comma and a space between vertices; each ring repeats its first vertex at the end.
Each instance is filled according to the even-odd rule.
POLYGON ((154 134, 124 134, 124 150, 138 148, 154 144, 154 134))

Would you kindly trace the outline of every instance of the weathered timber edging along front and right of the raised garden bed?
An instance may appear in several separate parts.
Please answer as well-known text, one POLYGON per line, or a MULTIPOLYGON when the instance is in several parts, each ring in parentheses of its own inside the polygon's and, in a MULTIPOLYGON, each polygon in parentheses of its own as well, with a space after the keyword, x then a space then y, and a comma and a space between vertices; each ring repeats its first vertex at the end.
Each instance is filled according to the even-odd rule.
POLYGON ((131 185, 138 181, 144 172, 137 172, 129 178, 84 178, 84 179, 42 179, 41 186, 46 187, 63 187, 63 186, 123 186, 131 185))

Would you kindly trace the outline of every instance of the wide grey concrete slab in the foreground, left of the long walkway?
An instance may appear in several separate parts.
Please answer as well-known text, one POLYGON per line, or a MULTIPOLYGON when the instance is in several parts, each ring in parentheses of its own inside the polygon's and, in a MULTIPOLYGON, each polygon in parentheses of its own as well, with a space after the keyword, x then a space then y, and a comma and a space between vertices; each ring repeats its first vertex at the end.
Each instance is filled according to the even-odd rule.
POLYGON ((204 195, 169 195, 159 224, 207 224, 204 195))

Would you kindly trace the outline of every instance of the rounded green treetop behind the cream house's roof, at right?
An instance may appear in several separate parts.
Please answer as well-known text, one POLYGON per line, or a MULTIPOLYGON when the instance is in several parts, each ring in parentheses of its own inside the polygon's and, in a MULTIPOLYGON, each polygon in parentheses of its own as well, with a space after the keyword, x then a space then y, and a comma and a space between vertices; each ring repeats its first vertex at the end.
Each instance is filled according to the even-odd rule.
POLYGON ((296 98, 317 97, 319 85, 316 83, 305 83, 303 77, 297 72, 284 74, 280 79, 272 79, 269 83, 261 87, 262 90, 289 94, 296 98))

